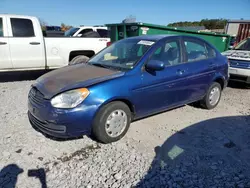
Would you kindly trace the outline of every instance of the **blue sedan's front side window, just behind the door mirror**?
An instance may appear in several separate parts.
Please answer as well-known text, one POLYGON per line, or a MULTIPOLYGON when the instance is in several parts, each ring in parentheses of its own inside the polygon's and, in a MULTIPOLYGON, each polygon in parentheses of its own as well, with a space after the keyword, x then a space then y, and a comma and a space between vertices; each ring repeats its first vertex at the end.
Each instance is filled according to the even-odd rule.
POLYGON ((156 49, 151 57, 153 60, 159 60, 165 63, 165 66, 172 66, 181 63, 181 52, 178 41, 166 42, 156 49))

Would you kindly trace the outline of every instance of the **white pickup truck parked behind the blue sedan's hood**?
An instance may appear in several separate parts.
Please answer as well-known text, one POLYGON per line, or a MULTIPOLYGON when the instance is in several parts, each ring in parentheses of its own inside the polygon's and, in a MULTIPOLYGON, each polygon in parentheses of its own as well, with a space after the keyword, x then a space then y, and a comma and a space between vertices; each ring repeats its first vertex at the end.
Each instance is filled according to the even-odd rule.
POLYGON ((36 17, 0 14, 0 72, 56 69, 87 61, 103 37, 44 37, 36 17))

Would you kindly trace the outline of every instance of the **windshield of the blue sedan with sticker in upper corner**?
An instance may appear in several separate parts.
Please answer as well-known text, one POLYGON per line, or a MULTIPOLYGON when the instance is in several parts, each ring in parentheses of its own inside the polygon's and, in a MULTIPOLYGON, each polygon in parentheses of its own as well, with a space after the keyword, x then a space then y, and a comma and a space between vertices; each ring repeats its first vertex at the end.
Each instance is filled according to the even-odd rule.
POLYGON ((101 51, 88 63, 124 71, 130 70, 153 44, 154 41, 148 40, 121 40, 101 51))

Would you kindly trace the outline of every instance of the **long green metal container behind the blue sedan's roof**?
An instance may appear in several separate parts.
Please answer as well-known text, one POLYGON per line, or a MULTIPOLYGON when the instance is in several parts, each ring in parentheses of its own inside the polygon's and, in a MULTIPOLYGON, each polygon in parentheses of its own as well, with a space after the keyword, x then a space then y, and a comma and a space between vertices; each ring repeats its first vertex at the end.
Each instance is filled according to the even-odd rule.
POLYGON ((203 38, 210 44, 215 46, 220 52, 229 49, 231 36, 225 34, 217 34, 211 32, 198 32, 177 29, 173 27, 166 27, 162 25, 154 25, 148 23, 118 23, 106 24, 110 31, 111 42, 115 42, 127 37, 134 37, 139 35, 157 35, 157 34, 179 34, 191 35, 203 38))

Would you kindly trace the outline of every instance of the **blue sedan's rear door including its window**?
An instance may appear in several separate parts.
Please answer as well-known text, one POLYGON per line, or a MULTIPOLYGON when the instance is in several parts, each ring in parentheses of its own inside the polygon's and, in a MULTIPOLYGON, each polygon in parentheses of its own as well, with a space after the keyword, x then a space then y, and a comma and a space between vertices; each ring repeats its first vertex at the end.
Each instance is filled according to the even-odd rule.
POLYGON ((189 77, 191 100, 202 98, 210 86, 216 71, 216 52, 204 41, 183 37, 185 63, 192 76, 189 77))

